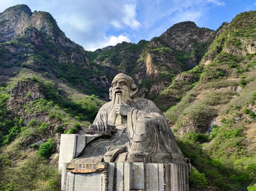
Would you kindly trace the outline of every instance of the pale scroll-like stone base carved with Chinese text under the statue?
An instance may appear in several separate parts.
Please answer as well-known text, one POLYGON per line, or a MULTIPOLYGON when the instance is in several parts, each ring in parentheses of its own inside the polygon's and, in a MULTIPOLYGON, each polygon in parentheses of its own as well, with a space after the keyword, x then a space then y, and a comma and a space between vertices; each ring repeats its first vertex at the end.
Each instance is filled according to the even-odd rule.
POLYGON ((185 163, 66 163, 65 167, 66 191, 188 191, 185 163))

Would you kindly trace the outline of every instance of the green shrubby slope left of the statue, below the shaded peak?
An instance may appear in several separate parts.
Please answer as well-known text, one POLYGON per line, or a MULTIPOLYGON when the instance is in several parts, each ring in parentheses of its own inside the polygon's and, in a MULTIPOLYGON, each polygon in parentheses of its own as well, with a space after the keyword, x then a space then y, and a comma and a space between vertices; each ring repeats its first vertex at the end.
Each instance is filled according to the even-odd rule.
MULTIPOLYGON (((0 190, 60 190, 57 166, 47 158, 58 153, 60 133, 88 128, 103 102, 28 69, 4 86, 0 91, 0 190), (25 112, 12 115, 6 101, 17 82, 39 85, 46 99, 19 105, 17 110, 25 112)), ((29 97, 29 92, 24 93, 29 97)))

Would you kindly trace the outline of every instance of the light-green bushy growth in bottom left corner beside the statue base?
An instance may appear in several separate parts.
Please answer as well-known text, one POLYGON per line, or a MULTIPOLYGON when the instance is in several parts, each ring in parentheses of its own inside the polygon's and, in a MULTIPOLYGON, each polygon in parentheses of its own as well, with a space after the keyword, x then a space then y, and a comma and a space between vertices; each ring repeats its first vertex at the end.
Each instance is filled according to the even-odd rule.
POLYGON ((39 155, 34 155, 12 168, 10 161, 0 157, 0 190, 59 191, 61 174, 39 155))

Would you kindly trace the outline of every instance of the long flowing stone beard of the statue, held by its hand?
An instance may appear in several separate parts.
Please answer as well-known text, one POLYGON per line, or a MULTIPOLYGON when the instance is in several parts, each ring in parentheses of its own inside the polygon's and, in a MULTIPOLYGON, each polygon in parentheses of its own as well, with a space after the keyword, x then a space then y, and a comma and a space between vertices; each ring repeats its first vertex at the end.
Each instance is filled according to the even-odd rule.
POLYGON ((111 115, 111 121, 114 124, 116 121, 116 106, 118 105, 128 105, 130 107, 143 110, 144 108, 142 106, 139 106, 136 102, 132 100, 132 98, 129 96, 129 94, 123 90, 120 90, 121 93, 115 93, 113 95, 113 99, 111 100, 110 104, 110 115, 111 115))

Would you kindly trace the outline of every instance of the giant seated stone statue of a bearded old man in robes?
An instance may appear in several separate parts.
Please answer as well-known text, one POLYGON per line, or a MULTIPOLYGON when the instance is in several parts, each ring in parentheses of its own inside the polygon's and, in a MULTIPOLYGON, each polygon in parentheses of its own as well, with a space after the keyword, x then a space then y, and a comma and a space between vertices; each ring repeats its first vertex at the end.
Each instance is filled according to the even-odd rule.
POLYGON ((110 125, 116 132, 92 140, 73 163, 184 163, 163 113, 152 101, 138 98, 137 91, 131 77, 115 76, 109 89, 111 101, 100 108, 93 124, 97 132, 108 131, 110 125))

